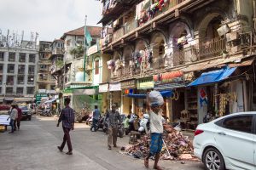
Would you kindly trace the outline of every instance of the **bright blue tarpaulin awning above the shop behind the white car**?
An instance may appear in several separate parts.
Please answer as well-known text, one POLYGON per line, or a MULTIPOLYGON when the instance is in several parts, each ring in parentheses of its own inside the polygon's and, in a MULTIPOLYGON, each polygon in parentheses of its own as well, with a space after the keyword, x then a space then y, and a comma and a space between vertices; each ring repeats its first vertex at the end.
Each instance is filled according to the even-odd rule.
POLYGON ((237 67, 230 68, 225 67, 218 71, 209 71, 201 74, 201 77, 198 77, 194 82, 191 82, 188 86, 199 86, 203 84, 215 83, 224 81, 227 77, 236 71, 237 67))

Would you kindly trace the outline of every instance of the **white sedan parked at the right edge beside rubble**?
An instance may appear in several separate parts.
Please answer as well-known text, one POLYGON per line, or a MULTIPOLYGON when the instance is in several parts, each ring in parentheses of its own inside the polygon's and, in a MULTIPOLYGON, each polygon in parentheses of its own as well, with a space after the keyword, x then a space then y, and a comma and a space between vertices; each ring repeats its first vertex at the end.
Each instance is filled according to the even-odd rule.
POLYGON ((198 125, 194 154, 206 169, 256 170, 256 112, 241 112, 198 125))

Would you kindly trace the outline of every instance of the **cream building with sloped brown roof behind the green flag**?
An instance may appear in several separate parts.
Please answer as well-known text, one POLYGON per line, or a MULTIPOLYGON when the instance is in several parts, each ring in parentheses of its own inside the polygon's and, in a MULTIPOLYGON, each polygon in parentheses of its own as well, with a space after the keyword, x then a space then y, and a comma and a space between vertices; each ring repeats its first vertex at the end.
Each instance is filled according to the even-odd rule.
POLYGON ((87 48, 99 41, 102 27, 86 26, 86 30, 85 37, 84 26, 68 31, 61 37, 64 40, 65 48, 65 66, 62 71, 65 75, 65 78, 62 79, 65 81, 63 85, 64 97, 71 98, 71 105, 76 110, 85 105, 98 104, 96 90, 98 87, 92 85, 90 58, 86 57, 85 53, 87 48), (85 48, 84 44, 86 44, 85 48))

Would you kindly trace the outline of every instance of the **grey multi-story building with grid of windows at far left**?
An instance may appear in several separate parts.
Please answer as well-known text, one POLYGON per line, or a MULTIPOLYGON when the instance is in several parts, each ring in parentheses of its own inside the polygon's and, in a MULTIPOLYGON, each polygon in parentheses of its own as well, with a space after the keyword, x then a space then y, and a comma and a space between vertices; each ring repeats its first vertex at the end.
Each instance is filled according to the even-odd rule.
MULTIPOLYGON (((1 40, 4 40, 1 39, 1 40)), ((37 79, 36 42, 0 45, 0 103, 33 102, 37 79)))

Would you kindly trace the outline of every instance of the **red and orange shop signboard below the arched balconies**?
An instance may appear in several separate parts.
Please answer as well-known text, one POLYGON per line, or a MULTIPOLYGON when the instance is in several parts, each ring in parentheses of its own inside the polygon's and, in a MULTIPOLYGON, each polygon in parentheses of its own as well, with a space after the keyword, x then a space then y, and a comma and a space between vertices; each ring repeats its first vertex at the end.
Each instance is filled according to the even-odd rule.
POLYGON ((183 75, 183 71, 172 71, 154 75, 154 87, 155 89, 185 87, 183 75))

